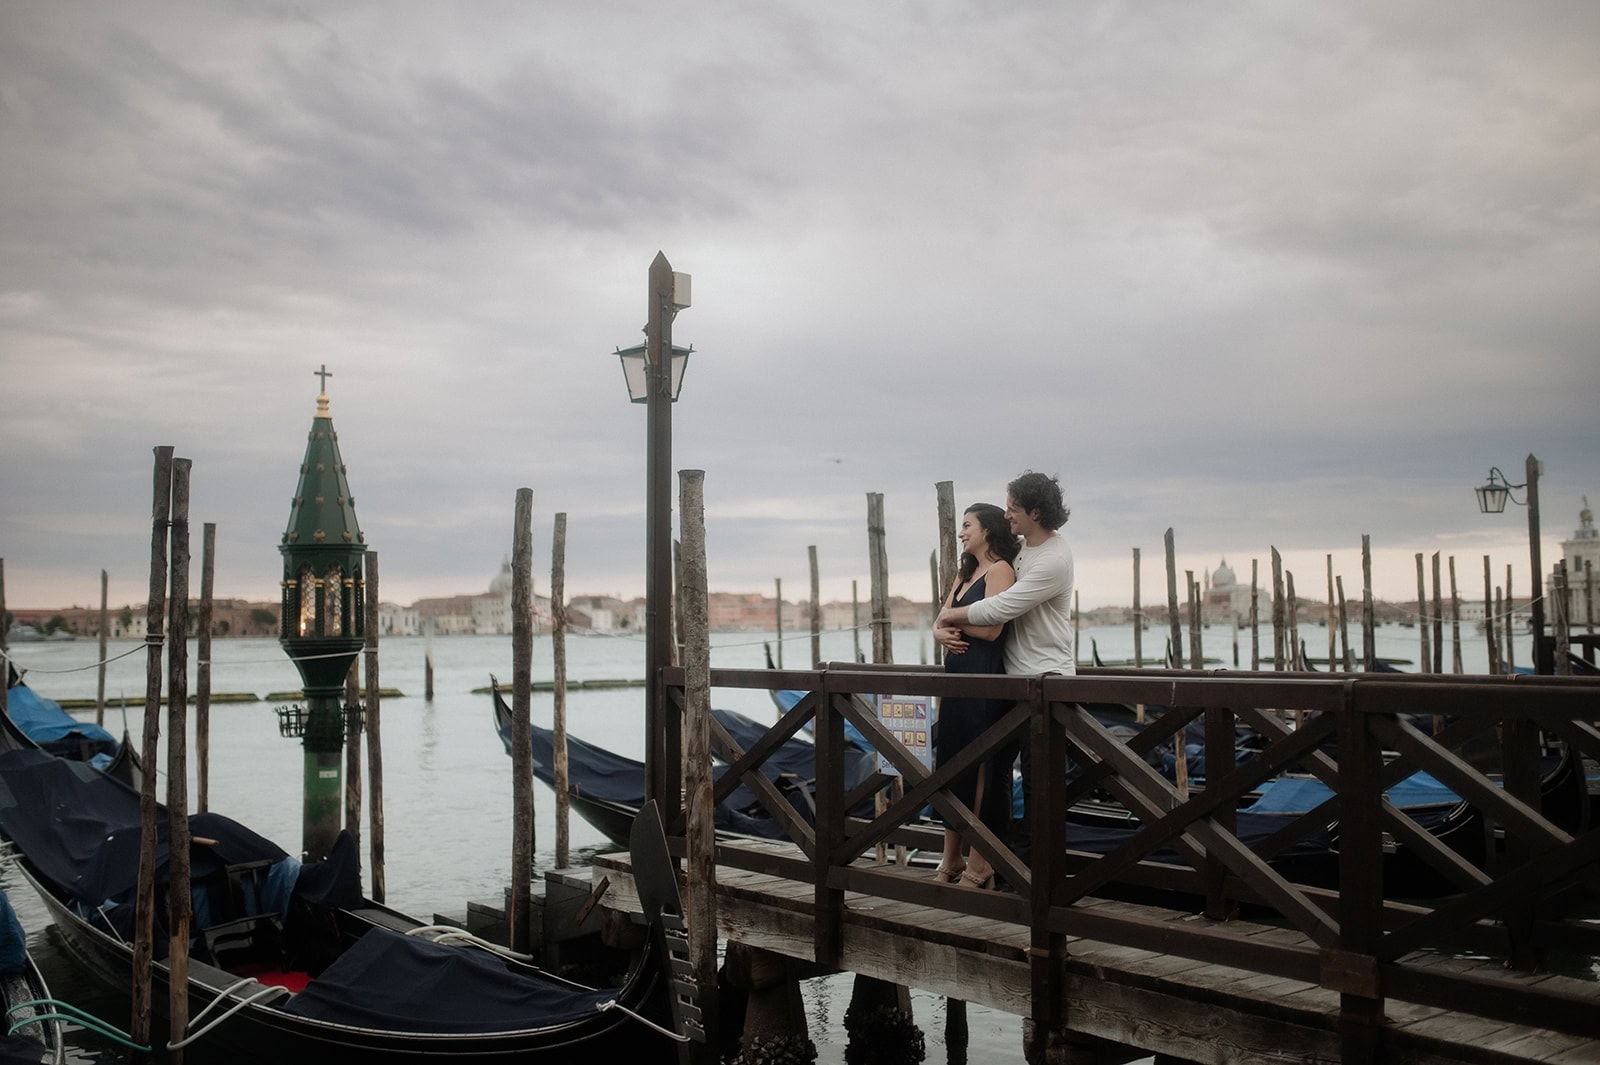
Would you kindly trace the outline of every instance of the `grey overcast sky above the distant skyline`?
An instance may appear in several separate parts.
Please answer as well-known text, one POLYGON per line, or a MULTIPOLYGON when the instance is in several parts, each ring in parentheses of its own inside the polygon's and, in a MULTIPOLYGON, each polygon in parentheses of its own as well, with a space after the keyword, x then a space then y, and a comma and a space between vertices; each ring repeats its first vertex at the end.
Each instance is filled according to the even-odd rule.
MULTIPOLYGON (((1059 473, 1083 606, 1178 566, 1526 587, 1600 502, 1600 5, 0 6, 0 556, 142 603, 152 453, 275 598, 323 363, 382 596, 643 590, 650 261, 710 584, 930 593, 938 481, 1059 473)), ((675 493, 674 486, 674 493, 675 493)), ((197 539, 198 545, 198 539, 197 539)), ((198 550, 197 550, 198 563, 198 550)), ((197 577, 195 577, 197 585, 197 577)))

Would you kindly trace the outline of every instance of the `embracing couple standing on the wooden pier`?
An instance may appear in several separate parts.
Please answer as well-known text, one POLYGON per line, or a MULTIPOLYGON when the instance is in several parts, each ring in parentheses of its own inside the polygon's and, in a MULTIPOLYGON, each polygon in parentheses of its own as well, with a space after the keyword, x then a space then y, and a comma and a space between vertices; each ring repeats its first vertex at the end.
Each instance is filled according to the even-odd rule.
MULTIPOLYGON (((962 513, 962 561, 933 636, 949 673, 1075 673, 1072 651, 1072 552, 1058 529, 1070 513, 1054 477, 1029 470, 1005 489, 1005 510, 973 504, 962 513)), ((1000 699, 941 699, 934 760, 944 764, 1011 708, 1000 699)), ((1011 841, 1027 860, 1032 792, 1027 734, 1022 745, 1024 820, 1011 841)), ((1002 843, 1011 833, 1011 764, 1018 740, 957 777, 952 793, 971 806, 1002 843)), ((994 867, 976 849, 963 859, 958 833, 944 832, 938 876, 992 888, 994 867)))

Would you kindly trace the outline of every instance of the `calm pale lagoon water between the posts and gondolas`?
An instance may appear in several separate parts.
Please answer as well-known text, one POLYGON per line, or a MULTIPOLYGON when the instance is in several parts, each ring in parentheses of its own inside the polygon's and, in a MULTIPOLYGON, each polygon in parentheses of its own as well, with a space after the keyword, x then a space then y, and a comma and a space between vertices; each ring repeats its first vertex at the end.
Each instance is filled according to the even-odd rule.
MULTIPOLYGON (((1462 632, 1466 670, 1485 672, 1488 652, 1483 636, 1462 632)), ((1326 654, 1326 630, 1304 628, 1309 654, 1326 654)), ((1357 643, 1358 632, 1354 633, 1357 643)), ((726 668, 760 668, 765 665, 763 644, 771 633, 717 633, 712 636, 712 665, 726 668)), ((1131 659, 1131 628, 1086 628, 1082 635, 1080 659, 1090 660, 1091 640, 1107 660, 1131 659)), ((1187 633, 1186 633, 1187 640, 1187 633)), ((1250 665, 1248 633, 1240 633, 1240 656, 1250 665)), ((1450 630, 1445 630, 1445 660, 1450 660, 1450 630)), ((1165 630, 1144 633, 1144 652, 1160 654, 1165 630)), ((1222 627, 1205 630, 1205 654, 1232 665, 1232 633, 1222 627)), ((1264 632, 1270 644, 1270 630, 1264 632)), ((862 633, 861 644, 870 649, 862 633)), ((1386 625, 1378 630, 1378 652, 1384 657, 1416 659, 1419 638, 1414 628, 1386 625)), ((1518 662, 1526 664, 1528 641, 1517 648, 1518 662)), ((808 633, 786 633, 786 665, 810 660, 808 633)), ((856 640, 850 632, 822 636, 826 660, 851 660, 856 640)), ((70 643, 29 643, 11 648, 18 668, 27 670, 27 683, 53 699, 93 699, 96 692, 98 644, 94 640, 70 643)), ((251 692, 259 702, 219 702, 211 707, 211 782, 210 806, 256 832, 275 840, 288 851, 299 844, 301 833, 301 745, 278 736, 269 692, 294 691, 299 673, 275 640, 216 640, 211 644, 211 691, 251 692)), ((926 632, 898 630, 894 659, 925 662, 930 656, 926 632)), ((107 667, 106 726, 117 732, 123 721, 136 739, 142 729, 146 651, 139 641, 112 641, 107 667), (126 712, 120 708, 126 699, 126 712)), ((645 673, 645 646, 637 636, 570 636, 566 641, 568 683, 584 680, 635 680, 645 673)), ((195 681, 195 644, 189 646, 190 681, 195 681)), ((1408 667, 1410 668, 1410 667, 1408 667)), ((429 918, 434 913, 462 913, 467 900, 496 899, 510 870, 510 761, 493 726, 491 700, 474 694, 494 673, 510 683, 512 646, 509 636, 448 636, 424 641, 419 636, 387 638, 379 649, 379 680, 384 688, 397 688, 402 697, 382 702, 384 745, 384 824, 386 883, 389 903, 429 918), (426 700, 426 660, 434 662, 434 699, 426 700)), ((533 678, 552 678, 549 636, 534 644, 533 678)), ((757 720, 774 718, 766 692, 715 689, 717 707, 739 710, 757 720)), ((640 758, 643 753, 643 689, 598 689, 568 692, 568 729, 573 736, 602 744, 618 753, 640 758)), ((93 710, 75 712, 93 720, 93 710)), ((534 721, 550 724, 552 696, 533 696, 534 721)), ((163 713, 165 724, 165 713, 163 713)), ((158 760, 165 764, 163 750, 158 760)), ((146 764, 157 761, 146 752, 146 764)), ((198 795, 194 780, 194 745, 190 737, 190 801, 198 795)), ((165 795, 165 793, 163 793, 165 795)), ((536 873, 555 864, 555 801, 542 785, 536 788, 536 873)), ((598 832, 581 819, 571 822, 573 864, 606 849, 598 832)), ((128 1006, 123 996, 106 991, 78 971, 59 948, 50 916, 27 881, 0 864, 0 884, 27 929, 29 948, 51 990, 70 1001, 126 1028, 128 1006)), ((810 980, 805 988, 810 1035, 818 1044, 818 1060, 834 1065, 845 1057, 843 1014, 850 1004, 850 977, 810 980)), ((928 1062, 947 1060, 942 1041, 944 999, 914 991, 915 1020, 926 1035, 928 1062)), ((974 1062, 1021 1062, 1021 1019, 968 1006, 970 1049, 974 1062)), ((126 1052, 104 1038, 82 1028, 70 1031, 72 1062, 125 1062, 126 1052)), ((203 1052, 190 1051, 190 1062, 213 1065, 203 1052)), ((955 1059, 960 1060, 960 1059, 955 1059)))

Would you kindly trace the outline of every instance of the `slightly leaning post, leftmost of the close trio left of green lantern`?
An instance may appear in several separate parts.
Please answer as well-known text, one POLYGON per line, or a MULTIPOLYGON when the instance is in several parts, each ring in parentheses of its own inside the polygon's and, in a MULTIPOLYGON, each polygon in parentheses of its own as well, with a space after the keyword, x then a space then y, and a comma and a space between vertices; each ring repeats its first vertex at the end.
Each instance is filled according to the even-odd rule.
POLYGON ((162 742, 162 641, 166 627, 166 523, 173 505, 173 448, 155 448, 150 507, 150 598, 144 606, 144 745, 150 764, 139 785, 139 881, 134 889, 133 998, 130 1035, 150 1044, 152 964, 155 961, 155 750, 162 742))

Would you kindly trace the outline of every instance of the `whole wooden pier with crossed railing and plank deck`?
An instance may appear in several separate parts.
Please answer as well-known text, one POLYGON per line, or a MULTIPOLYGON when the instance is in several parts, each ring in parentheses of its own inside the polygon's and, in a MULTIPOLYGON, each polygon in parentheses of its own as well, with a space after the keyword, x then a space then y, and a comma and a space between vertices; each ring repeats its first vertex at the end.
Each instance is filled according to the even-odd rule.
MULTIPOLYGON (((717 800, 742 782, 790 835, 718 841, 717 929, 728 943, 789 958, 803 974, 851 971, 1019 1014, 1034 1060, 1600 1062, 1600 982, 1546 967, 1552 950, 1590 966, 1600 958, 1600 926, 1581 919, 1600 911, 1600 832, 1582 772, 1584 760, 1600 761, 1600 681, 1189 670, 973 678, 845 665, 714 670, 712 686, 810 692, 747 752, 712 729, 731 764, 717 800), (874 694, 1018 705, 930 772, 882 731, 866 702, 874 694), (1114 736, 1091 708, 1120 705, 1152 712, 1134 734, 1114 736), (846 816, 872 784, 845 793, 835 756, 845 721, 904 777, 904 798, 872 819, 846 816), (1206 764, 1230 769, 1184 793, 1144 755, 1189 723, 1203 724, 1206 764), (819 766, 813 819, 758 772, 806 724, 819 766), (1238 756, 1237 726, 1261 748, 1238 756), (942 790, 963 764, 1024 737, 1027 860, 942 790), (1266 838, 1243 838, 1245 796, 1291 771, 1322 780, 1330 798, 1283 816, 1266 838), (1466 836, 1384 800, 1416 771, 1462 796, 1466 836), (1069 819, 1091 800, 1118 803, 1130 828, 1099 852, 1069 849, 1069 819), (978 841, 1008 891, 874 864, 880 843, 938 849, 915 825, 930 803, 978 841), (1318 862, 1286 860, 1330 825, 1336 846, 1318 862), (1440 891, 1403 902, 1386 894, 1386 880, 1421 883, 1419 868, 1440 891)), ((680 672, 669 670, 666 691, 682 705, 680 672)), ((682 814, 670 812, 682 854, 682 814)), ((594 876, 611 881, 606 905, 627 905, 626 856, 605 856, 594 876)))

